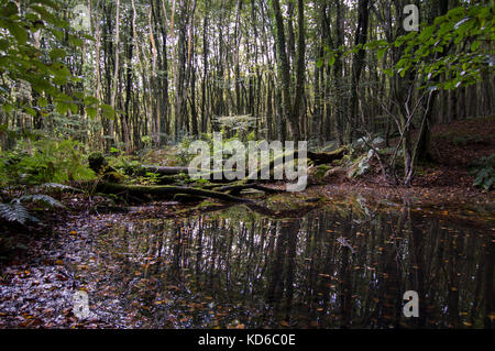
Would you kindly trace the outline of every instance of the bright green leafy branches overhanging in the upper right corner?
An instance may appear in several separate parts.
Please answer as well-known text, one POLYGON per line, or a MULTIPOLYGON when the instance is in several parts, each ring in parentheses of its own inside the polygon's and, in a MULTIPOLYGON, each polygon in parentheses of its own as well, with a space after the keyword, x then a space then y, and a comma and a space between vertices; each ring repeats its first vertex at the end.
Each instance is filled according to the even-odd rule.
POLYGON ((486 46, 495 39, 494 12, 490 3, 459 7, 424 25, 421 32, 398 37, 393 46, 405 50, 395 69, 403 77, 416 70, 429 89, 447 90, 479 81, 482 72, 495 73, 495 55, 486 46), (466 48, 450 50, 452 45, 466 48), (433 80, 440 75, 446 79, 433 80))

